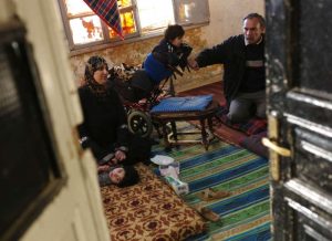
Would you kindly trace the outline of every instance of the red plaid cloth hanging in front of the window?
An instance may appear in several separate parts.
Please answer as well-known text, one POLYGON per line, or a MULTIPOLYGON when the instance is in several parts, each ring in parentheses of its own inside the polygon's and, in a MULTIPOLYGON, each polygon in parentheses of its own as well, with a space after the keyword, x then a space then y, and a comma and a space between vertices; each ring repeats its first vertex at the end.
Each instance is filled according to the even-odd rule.
POLYGON ((84 2, 124 39, 116 0, 84 0, 84 2))

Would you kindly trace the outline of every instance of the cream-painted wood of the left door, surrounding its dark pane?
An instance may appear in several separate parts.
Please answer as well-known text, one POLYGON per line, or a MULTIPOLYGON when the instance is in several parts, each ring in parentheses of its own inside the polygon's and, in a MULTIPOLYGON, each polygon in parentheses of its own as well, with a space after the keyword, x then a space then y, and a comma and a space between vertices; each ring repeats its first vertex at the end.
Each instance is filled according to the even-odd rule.
POLYGON ((12 23, 13 15, 24 24, 32 45, 45 97, 43 113, 50 119, 53 148, 65 177, 65 185, 20 240, 107 241, 95 160, 91 151, 81 150, 77 142, 76 125, 82 122, 82 113, 58 0, 0 0, 0 28, 12 23))

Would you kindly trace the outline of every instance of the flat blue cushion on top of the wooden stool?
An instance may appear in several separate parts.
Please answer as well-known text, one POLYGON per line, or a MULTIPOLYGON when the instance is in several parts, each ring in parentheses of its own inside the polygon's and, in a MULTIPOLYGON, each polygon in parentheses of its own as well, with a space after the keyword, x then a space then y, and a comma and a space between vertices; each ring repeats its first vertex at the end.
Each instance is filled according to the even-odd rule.
POLYGON ((212 101, 212 95, 197 95, 186 97, 169 97, 154 106, 151 113, 162 112, 199 112, 204 111, 212 101))

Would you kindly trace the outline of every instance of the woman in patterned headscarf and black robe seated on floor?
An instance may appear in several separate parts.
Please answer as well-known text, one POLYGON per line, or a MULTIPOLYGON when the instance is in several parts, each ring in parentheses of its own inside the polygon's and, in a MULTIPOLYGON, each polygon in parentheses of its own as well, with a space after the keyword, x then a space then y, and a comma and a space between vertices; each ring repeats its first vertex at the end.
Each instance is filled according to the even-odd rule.
POLYGON ((91 56, 84 84, 79 88, 84 122, 79 126, 80 143, 90 147, 98 166, 147 163, 151 143, 134 136, 117 93, 107 81, 108 67, 101 56, 91 56))

